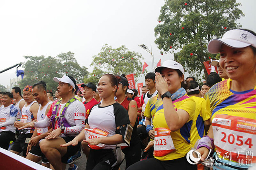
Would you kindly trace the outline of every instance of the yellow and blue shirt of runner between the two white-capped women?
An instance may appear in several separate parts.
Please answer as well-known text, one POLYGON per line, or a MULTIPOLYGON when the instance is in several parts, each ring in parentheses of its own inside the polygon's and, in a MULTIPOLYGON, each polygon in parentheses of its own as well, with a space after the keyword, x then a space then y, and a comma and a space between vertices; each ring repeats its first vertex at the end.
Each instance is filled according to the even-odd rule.
POLYGON ((204 121, 210 118, 210 111, 206 108, 206 100, 201 97, 190 96, 195 101, 195 117, 191 128, 191 143, 195 145, 197 139, 205 136, 204 121))

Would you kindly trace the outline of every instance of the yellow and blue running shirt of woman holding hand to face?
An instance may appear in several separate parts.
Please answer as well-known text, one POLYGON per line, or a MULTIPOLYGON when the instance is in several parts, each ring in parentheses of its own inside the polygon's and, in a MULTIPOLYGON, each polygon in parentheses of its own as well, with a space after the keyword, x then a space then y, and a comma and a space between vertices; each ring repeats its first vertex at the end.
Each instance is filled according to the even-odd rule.
MULTIPOLYGON (((174 160, 185 157, 188 151, 190 151, 192 144, 190 143, 190 131, 195 112, 195 101, 191 99, 187 94, 172 101, 175 110, 182 109, 189 114, 188 121, 175 132, 171 132, 172 141, 174 143, 175 151, 162 157, 155 157, 158 160, 174 160)), ((154 115, 154 128, 168 128, 166 120, 164 118, 164 106, 162 99, 158 99, 155 103, 156 113, 154 115)))

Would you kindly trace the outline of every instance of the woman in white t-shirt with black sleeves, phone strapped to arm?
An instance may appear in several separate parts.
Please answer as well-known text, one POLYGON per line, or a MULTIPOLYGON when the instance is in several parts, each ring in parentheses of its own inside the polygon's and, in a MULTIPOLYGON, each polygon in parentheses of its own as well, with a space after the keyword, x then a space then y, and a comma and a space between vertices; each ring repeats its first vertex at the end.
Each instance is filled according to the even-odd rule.
POLYGON ((123 135, 119 134, 120 126, 130 123, 127 110, 114 99, 117 91, 118 80, 113 74, 104 74, 98 82, 98 92, 102 102, 92 107, 85 128, 72 141, 61 145, 77 145, 83 140, 91 147, 87 160, 86 170, 118 169, 120 162, 115 157, 118 143, 123 143, 123 135), (99 133, 101 132, 101 136, 99 133), (104 135, 105 134, 105 135, 104 135), (100 136, 100 137, 99 137, 100 136), (105 137, 103 137, 105 136, 105 137), (114 169, 115 169, 114 168, 114 169))

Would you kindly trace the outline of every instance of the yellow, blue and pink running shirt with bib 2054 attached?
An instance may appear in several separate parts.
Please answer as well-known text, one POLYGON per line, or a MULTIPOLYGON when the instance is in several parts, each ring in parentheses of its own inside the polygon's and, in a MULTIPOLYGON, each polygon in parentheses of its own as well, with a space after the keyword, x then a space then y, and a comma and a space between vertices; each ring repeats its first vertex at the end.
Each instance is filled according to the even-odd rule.
MULTIPOLYGON (((231 79, 212 86, 206 96, 211 108, 214 145, 220 157, 246 161, 256 153, 256 86, 244 92, 230 89, 231 79), (230 155, 227 155, 230 154, 230 155)), ((255 155, 250 161, 256 162, 255 155)), ((249 161, 249 160, 248 160, 249 161)))

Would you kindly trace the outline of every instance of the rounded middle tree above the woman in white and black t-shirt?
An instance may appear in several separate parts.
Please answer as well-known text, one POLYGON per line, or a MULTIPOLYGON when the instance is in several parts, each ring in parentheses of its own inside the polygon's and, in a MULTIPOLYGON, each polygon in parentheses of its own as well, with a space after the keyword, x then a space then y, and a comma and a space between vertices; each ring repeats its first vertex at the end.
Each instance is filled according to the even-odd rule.
POLYGON ((105 73, 130 74, 135 73, 135 79, 142 73, 144 59, 141 54, 129 51, 125 46, 112 48, 105 44, 98 55, 93 56, 91 66, 94 66, 92 73, 84 82, 98 82, 105 73), (95 75, 95 76, 94 76, 95 75))

